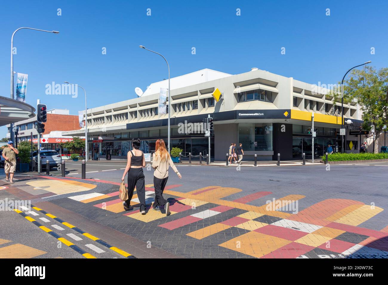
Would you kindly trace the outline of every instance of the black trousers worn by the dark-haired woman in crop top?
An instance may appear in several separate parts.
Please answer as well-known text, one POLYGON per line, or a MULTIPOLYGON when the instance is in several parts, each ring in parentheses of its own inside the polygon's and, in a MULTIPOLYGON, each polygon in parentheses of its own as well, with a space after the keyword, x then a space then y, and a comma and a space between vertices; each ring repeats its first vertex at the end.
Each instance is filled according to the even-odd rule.
POLYGON ((140 201, 140 211, 145 210, 145 185, 143 168, 130 168, 128 171, 128 200, 127 206, 131 204, 133 190, 135 190, 140 201))

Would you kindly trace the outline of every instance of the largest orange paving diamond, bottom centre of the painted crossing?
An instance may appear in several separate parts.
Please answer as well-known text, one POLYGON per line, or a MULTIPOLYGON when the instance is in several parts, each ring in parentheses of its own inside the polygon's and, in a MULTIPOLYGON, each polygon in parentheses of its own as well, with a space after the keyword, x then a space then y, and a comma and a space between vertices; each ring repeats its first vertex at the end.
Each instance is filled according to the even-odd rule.
POLYGON ((257 233, 256 231, 249 231, 248 233, 244 233, 239 237, 232 238, 231 240, 220 244, 220 246, 250 256, 262 257, 289 243, 291 243, 290 240, 272 237, 263 233, 257 233))

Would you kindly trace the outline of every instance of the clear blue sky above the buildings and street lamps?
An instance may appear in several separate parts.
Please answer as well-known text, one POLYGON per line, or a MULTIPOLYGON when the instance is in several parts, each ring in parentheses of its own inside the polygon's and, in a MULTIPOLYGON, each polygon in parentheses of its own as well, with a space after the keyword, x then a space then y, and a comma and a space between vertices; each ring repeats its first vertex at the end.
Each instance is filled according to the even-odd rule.
MULTIPOLYGON (((26 102, 36 106, 40 99, 48 109, 78 114, 85 108, 81 90, 77 98, 46 95, 45 85, 78 83, 87 90, 89 108, 135 98, 135 87, 145 90, 168 76, 164 60, 139 45, 163 54, 171 77, 203 68, 238 74, 258 67, 333 84, 367 60, 386 67, 387 10, 386 1, 4 1, 1 96, 10 95, 11 35, 23 26, 60 31, 15 35, 14 71, 29 75, 26 102)), ((4 137, 5 127, 0 132, 4 137)))

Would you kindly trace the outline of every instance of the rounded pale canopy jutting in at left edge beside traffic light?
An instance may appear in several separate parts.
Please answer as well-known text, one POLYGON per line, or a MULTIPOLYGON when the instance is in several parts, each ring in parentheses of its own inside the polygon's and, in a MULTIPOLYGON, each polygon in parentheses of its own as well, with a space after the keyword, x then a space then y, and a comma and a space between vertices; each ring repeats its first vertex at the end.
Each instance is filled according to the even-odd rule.
POLYGON ((34 112, 35 108, 31 105, 0 96, 0 126, 32 118, 34 112))

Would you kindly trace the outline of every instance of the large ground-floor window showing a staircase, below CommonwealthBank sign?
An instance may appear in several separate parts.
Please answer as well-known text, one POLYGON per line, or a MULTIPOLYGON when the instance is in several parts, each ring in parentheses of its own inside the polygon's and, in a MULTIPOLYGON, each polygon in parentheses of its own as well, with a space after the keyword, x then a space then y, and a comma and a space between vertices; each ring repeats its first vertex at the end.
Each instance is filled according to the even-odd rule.
POLYGON ((239 143, 245 151, 272 150, 272 123, 239 124, 239 143))

